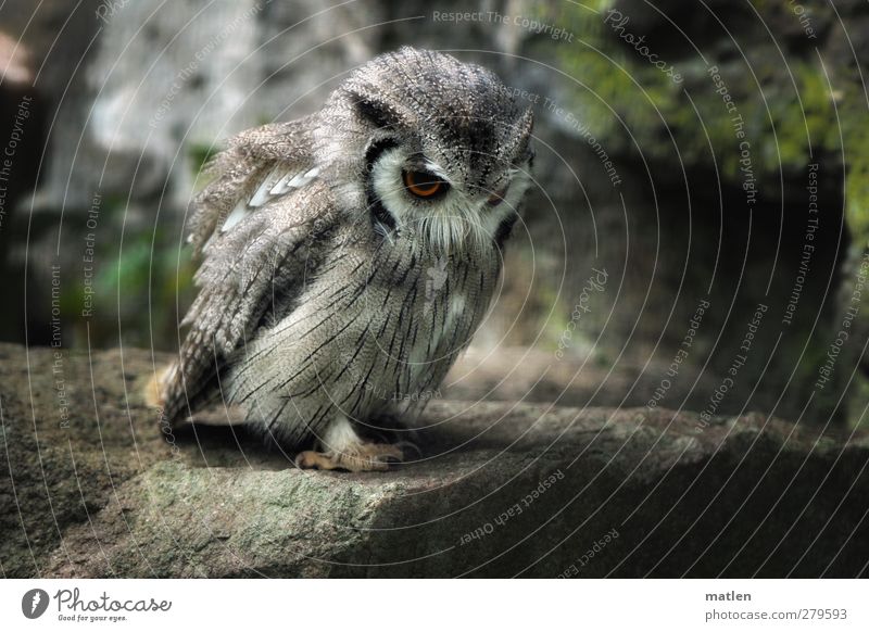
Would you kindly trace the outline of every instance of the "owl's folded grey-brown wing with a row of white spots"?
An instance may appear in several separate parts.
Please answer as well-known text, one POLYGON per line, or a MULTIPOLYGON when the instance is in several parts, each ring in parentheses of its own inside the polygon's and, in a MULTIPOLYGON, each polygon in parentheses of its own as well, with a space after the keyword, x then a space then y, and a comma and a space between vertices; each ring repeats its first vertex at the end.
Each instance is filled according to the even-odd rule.
POLYGON ((336 222, 328 187, 308 153, 310 123, 243 132, 209 166, 214 179, 193 201, 189 241, 202 264, 197 295, 181 325, 190 329, 161 378, 172 421, 215 379, 224 358, 247 340, 276 294, 301 288, 316 267, 310 248, 336 222))

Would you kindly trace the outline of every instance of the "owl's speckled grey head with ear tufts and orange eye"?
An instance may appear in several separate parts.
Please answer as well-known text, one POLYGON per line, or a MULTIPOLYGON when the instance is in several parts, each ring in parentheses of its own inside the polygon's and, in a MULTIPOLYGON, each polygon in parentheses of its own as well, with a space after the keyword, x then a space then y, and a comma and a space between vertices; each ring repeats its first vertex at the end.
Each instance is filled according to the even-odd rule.
POLYGON ((461 252, 509 233, 532 114, 490 71, 402 48, 356 69, 324 113, 318 136, 345 175, 339 194, 383 239, 461 252))

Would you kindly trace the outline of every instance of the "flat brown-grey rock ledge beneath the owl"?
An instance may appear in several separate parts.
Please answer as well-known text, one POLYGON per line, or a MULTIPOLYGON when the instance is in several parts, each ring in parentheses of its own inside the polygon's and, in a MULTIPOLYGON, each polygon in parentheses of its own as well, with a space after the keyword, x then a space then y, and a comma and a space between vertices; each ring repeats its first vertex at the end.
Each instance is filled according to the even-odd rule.
POLYGON ((437 401, 414 463, 300 471, 238 429, 167 442, 165 361, 0 345, 3 576, 867 574, 865 433, 437 401))

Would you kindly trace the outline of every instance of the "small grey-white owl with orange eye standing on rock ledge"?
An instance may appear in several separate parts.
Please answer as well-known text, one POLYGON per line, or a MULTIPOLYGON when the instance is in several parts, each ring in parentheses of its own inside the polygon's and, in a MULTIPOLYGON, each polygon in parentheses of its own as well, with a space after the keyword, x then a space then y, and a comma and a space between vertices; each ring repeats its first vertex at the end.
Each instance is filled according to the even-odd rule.
POLYGON ((402 462, 377 430, 421 410, 483 321, 531 128, 490 71, 402 48, 316 114, 232 138, 192 204, 199 293, 164 419, 223 402, 299 467, 402 462))

